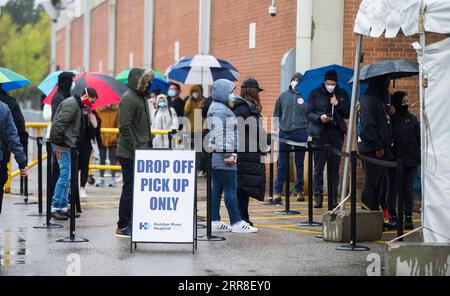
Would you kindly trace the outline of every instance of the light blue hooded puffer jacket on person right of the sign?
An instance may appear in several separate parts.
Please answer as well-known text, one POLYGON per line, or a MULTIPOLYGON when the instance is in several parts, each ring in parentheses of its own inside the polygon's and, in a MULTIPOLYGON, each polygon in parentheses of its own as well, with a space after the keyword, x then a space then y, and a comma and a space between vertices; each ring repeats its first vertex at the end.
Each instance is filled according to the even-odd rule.
POLYGON ((213 170, 237 171, 236 164, 227 165, 224 162, 238 148, 237 119, 228 107, 228 99, 234 87, 231 81, 225 79, 217 80, 212 86, 213 103, 208 111, 209 147, 214 151, 230 152, 213 153, 213 170))

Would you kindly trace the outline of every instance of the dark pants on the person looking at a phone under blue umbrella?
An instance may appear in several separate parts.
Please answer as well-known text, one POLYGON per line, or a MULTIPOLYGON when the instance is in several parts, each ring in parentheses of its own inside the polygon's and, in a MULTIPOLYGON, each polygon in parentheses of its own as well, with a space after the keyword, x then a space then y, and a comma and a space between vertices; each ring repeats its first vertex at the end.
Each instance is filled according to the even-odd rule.
MULTIPOLYGON (((318 147, 331 145, 334 149, 342 150, 343 144, 344 136, 340 134, 335 134, 326 140, 313 139, 313 145, 318 147)), ((314 194, 316 198, 323 198, 323 171, 326 163, 327 153, 325 151, 314 152, 314 194)), ((337 202, 341 157, 331 153, 331 163, 328 165, 331 166, 331 184, 333 189, 333 192, 328 192, 328 194, 333 198, 334 202, 337 202)))

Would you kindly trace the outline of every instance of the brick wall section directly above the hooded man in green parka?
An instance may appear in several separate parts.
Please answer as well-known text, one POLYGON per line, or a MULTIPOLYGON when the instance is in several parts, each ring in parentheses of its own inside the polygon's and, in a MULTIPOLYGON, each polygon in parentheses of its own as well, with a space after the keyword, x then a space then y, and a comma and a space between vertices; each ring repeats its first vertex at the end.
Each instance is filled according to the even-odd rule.
POLYGON ((117 1, 116 74, 129 67, 130 53, 133 66, 143 64, 144 7, 143 0, 117 1))

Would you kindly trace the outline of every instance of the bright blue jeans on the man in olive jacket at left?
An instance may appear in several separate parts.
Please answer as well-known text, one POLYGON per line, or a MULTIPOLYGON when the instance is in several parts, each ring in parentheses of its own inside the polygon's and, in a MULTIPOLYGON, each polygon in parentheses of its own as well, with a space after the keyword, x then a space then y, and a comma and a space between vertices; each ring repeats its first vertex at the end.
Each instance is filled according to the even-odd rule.
POLYGON ((55 186, 55 193, 53 194, 52 210, 66 211, 69 204, 69 190, 70 190, 70 170, 71 159, 70 153, 61 152, 59 164, 59 178, 55 186))

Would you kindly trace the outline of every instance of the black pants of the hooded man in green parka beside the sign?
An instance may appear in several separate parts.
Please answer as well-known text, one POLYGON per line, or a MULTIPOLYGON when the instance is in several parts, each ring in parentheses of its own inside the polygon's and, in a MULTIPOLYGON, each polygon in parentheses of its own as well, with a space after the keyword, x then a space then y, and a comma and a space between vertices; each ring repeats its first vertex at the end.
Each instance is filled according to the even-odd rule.
POLYGON ((132 206, 133 206, 133 184, 134 184, 134 160, 118 157, 122 166, 123 187, 119 204, 119 222, 117 226, 120 229, 131 227, 132 206))

